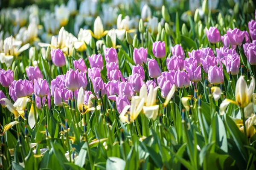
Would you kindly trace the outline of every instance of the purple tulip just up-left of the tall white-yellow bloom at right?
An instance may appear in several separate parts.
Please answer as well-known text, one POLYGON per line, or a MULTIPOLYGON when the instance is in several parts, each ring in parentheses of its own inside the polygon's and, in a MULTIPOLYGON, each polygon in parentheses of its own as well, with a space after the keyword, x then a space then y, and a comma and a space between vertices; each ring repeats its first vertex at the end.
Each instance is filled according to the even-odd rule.
POLYGON ((238 54, 228 54, 221 59, 221 62, 226 66, 227 73, 231 72, 232 75, 239 74, 240 57, 238 54))

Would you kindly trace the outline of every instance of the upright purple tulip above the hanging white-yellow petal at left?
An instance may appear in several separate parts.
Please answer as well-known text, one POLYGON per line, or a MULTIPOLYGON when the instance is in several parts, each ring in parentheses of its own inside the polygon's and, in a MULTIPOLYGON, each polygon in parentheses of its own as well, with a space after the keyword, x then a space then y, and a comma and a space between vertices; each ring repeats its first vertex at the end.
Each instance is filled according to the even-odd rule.
POLYGON ((49 86, 46 79, 34 79, 34 92, 39 97, 44 97, 49 92, 49 86))

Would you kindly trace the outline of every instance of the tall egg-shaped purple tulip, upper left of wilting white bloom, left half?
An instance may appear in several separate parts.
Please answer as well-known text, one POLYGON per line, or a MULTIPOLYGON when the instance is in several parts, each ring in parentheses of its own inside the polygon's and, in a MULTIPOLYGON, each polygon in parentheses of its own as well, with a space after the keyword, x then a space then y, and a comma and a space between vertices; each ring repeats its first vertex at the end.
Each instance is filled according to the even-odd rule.
POLYGON ((79 89, 79 76, 73 69, 70 69, 64 75, 64 82, 67 89, 71 91, 79 89))

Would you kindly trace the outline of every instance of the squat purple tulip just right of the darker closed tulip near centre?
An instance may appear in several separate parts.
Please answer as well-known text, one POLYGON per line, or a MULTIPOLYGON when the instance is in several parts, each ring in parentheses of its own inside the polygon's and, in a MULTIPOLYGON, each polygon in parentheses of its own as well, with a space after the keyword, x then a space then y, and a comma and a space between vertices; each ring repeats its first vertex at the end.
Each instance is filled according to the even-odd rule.
POLYGON ((184 59, 181 56, 173 56, 166 59, 166 65, 169 71, 182 71, 184 68, 184 59))

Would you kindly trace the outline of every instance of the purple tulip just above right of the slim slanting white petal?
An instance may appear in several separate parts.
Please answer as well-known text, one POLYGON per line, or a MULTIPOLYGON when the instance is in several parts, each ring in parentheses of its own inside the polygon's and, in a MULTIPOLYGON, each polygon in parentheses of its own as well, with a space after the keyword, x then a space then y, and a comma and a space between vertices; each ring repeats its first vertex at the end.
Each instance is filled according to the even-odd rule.
POLYGON ((174 81, 176 87, 189 87, 189 73, 186 73, 185 71, 177 71, 174 75, 174 81))

